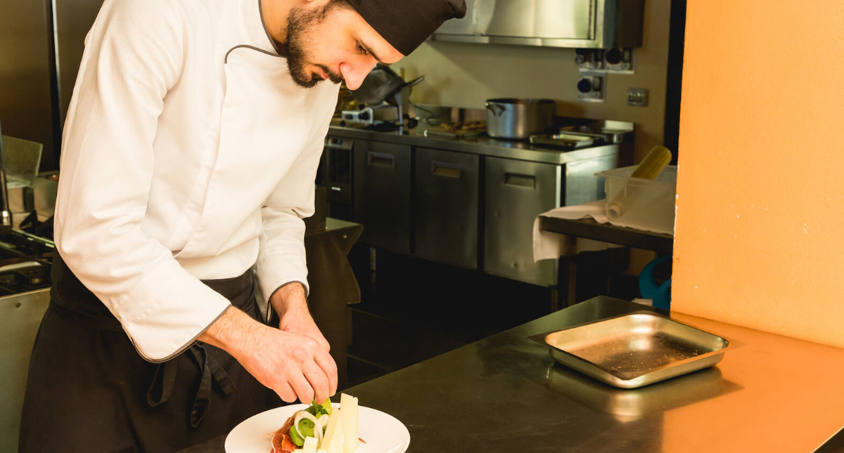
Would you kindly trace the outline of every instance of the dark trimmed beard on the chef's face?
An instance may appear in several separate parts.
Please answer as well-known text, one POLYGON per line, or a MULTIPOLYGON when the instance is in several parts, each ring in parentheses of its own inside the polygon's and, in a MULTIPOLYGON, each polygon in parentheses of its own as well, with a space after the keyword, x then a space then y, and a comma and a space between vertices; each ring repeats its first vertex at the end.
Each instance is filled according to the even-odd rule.
POLYGON ((343 76, 332 72, 325 65, 311 63, 313 56, 308 51, 308 36, 313 35, 312 31, 317 24, 325 20, 330 4, 316 11, 309 11, 305 8, 293 8, 287 17, 287 67, 290 77, 302 88, 313 88, 323 78, 314 75, 306 69, 308 66, 316 66, 322 69, 328 79, 333 83, 343 82, 343 76))

